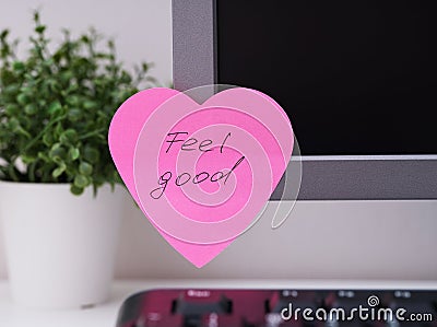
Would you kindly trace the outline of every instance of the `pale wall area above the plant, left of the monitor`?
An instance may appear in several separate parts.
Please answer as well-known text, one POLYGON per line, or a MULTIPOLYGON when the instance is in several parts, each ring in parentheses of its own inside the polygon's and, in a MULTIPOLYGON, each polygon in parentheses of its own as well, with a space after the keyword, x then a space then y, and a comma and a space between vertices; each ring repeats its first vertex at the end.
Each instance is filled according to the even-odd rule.
POLYGON ((40 9, 54 43, 62 38, 63 27, 79 34, 93 26, 115 38, 127 66, 154 62, 151 73, 165 85, 172 82, 170 0, 0 0, 0 30, 23 40, 20 54, 33 31, 34 9, 40 9))

